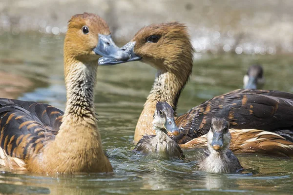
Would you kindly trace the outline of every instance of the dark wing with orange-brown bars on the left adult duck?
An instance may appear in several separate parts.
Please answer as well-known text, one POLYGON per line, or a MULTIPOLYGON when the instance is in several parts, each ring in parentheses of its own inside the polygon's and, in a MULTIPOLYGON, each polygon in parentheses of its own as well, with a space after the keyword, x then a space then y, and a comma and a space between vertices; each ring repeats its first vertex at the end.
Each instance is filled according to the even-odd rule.
POLYGON ((29 158, 55 138, 62 115, 48 104, 0 98, 1 149, 11 157, 29 158))

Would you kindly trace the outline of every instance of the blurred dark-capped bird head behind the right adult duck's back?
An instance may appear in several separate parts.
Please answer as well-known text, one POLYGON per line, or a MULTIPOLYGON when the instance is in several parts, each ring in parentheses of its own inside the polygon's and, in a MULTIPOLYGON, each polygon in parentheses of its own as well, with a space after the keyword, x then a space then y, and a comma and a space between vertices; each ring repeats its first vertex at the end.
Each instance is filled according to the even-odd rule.
POLYGON ((244 89, 262 89, 265 84, 263 67, 258 64, 251 65, 243 78, 244 89))

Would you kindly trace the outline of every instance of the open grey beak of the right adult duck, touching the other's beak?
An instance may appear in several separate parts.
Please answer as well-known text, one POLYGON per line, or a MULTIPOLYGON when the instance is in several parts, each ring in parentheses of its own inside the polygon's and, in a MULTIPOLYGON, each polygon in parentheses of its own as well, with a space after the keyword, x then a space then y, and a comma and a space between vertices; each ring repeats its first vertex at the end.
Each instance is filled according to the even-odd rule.
POLYGON ((133 42, 128 42, 126 45, 124 45, 123 47, 121 47, 121 50, 123 50, 124 52, 126 52, 128 54, 128 59, 126 60, 121 60, 121 59, 117 59, 117 58, 108 58, 108 57, 102 57, 99 59, 98 63, 99 65, 115 65, 115 64, 121 64, 121 63, 125 63, 128 61, 137 61, 142 59, 140 56, 136 55, 133 51, 135 46, 135 41, 133 42))

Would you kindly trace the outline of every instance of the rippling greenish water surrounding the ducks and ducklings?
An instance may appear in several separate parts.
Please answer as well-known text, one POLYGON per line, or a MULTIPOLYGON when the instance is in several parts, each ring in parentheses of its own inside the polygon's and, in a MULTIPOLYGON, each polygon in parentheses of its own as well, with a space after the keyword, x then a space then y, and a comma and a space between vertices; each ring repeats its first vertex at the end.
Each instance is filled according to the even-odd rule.
MULTIPOLYGON (((1 97, 41 101, 62 110, 63 36, 0 37, 1 97), (17 76, 16 76, 17 75, 17 76), (5 78, 4 76, 9 76, 5 78)), ((248 66, 265 68, 266 89, 293 92, 290 56, 196 54, 192 77, 179 100, 184 113, 201 102, 242 87, 248 66)), ((0 168, 0 194, 290 194, 293 160, 237 155, 245 170, 215 175, 196 169, 202 150, 185 150, 185 161, 154 159, 131 150, 137 119, 156 71, 132 62, 98 68, 95 106, 113 174, 43 176, 0 168)))

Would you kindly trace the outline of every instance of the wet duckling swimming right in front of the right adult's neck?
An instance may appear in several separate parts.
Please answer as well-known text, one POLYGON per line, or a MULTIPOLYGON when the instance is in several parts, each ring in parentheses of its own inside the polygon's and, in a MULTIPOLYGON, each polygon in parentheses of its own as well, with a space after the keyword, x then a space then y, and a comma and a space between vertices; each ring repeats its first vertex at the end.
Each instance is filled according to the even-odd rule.
POLYGON ((173 108, 167 102, 158 101, 153 118, 156 135, 143 136, 133 150, 143 154, 183 159, 185 156, 180 146, 167 135, 168 132, 173 135, 180 133, 174 121, 173 108))

